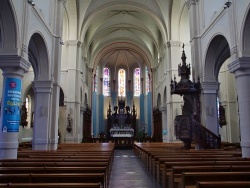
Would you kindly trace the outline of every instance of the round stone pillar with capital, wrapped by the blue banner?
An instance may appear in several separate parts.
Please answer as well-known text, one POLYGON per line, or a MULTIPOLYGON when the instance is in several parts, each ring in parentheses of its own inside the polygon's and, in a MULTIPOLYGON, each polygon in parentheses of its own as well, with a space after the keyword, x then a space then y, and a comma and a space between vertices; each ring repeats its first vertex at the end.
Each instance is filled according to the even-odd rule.
POLYGON ((0 159, 17 158, 22 78, 29 67, 30 64, 22 57, 0 56, 3 71, 0 159))

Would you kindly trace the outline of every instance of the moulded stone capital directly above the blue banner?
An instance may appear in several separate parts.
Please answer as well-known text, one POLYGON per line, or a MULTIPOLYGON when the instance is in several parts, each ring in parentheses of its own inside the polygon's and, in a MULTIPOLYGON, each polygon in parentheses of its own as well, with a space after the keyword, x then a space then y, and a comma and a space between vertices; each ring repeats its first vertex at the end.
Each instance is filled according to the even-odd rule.
POLYGON ((3 55, 0 56, 0 68, 4 73, 16 73, 23 75, 28 72, 30 63, 21 56, 3 55))

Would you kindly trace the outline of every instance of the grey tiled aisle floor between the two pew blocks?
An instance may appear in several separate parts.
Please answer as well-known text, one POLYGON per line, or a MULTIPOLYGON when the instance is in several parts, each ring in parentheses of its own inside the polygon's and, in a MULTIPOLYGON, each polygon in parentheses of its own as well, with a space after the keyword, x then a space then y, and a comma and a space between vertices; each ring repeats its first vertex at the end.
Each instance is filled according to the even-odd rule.
POLYGON ((109 188, 161 188, 132 150, 116 150, 109 188))

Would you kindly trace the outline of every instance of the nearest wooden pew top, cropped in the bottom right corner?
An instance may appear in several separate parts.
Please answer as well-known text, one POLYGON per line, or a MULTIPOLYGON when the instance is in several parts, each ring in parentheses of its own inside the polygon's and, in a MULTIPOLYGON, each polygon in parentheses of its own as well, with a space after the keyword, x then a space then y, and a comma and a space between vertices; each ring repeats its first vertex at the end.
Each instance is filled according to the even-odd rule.
POLYGON ((209 181, 197 182, 196 188, 249 188, 250 181, 209 181))

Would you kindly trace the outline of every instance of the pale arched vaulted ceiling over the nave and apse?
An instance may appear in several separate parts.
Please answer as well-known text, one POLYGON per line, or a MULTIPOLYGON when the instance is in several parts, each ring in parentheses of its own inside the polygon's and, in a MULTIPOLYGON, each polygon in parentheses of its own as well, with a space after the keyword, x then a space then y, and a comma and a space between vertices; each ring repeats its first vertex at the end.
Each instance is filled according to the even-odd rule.
POLYGON ((69 27, 73 20, 77 28, 69 31, 76 32, 83 43, 89 67, 145 64, 153 68, 170 38, 172 8, 180 7, 182 1, 69 0, 75 16, 71 15, 69 27))

